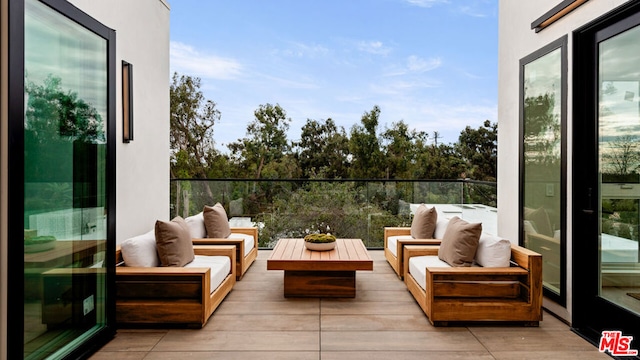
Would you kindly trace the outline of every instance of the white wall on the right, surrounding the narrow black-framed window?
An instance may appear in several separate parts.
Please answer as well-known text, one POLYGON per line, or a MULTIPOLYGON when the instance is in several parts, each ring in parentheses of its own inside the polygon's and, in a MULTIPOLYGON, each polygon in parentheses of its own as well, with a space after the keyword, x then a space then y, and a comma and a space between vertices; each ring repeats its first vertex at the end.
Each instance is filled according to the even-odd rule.
POLYGON ((569 35, 567 48, 567 308, 545 299, 544 306, 556 315, 571 318, 571 247, 572 247, 572 37, 574 30, 625 3, 626 0, 587 1, 573 12, 536 33, 531 23, 560 3, 560 0, 501 0, 499 6, 498 47, 498 232, 506 238, 518 239, 519 204, 519 126, 520 126, 520 59, 545 45, 569 35))

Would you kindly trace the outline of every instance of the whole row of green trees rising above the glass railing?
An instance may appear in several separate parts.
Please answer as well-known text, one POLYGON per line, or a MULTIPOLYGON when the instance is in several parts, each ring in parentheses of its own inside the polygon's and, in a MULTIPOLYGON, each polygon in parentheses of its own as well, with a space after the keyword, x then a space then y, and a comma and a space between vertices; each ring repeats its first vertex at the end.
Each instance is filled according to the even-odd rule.
POLYGON ((331 118, 307 119, 298 141, 287 138, 292 120, 279 104, 261 104, 247 119, 246 135, 215 149, 222 114, 204 98, 200 79, 173 75, 171 174, 174 178, 458 179, 495 181, 497 124, 467 126, 454 144, 433 143, 403 120, 380 130, 374 105, 347 133, 331 118))

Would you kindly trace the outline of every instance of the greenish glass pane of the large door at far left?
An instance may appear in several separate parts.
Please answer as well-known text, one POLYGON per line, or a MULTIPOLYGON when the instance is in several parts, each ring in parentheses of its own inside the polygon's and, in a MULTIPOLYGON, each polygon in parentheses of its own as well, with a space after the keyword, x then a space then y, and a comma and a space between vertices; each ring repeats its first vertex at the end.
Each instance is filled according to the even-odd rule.
POLYGON ((24 358, 103 326, 107 44, 25 1, 24 358))

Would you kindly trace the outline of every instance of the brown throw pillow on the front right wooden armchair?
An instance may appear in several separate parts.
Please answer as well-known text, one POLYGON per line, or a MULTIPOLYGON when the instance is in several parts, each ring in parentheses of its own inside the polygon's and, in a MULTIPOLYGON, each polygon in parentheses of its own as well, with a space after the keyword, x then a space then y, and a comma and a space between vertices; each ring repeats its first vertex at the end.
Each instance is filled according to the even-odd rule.
POLYGON ((454 216, 442 238, 438 258, 451 266, 471 266, 481 234, 481 223, 468 223, 454 216))

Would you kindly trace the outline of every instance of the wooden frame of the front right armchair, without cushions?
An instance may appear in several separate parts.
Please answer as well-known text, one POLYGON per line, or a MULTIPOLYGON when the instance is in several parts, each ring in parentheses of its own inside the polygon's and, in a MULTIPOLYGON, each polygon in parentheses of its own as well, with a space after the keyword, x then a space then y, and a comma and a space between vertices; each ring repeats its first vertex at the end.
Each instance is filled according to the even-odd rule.
POLYGON ((426 290, 408 272, 413 256, 438 255, 439 246, 406 246, 405 284, 429 322, 514 322, 542 320, 542 256, 511 245, 511 267, 427 267, 426 290))

